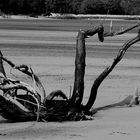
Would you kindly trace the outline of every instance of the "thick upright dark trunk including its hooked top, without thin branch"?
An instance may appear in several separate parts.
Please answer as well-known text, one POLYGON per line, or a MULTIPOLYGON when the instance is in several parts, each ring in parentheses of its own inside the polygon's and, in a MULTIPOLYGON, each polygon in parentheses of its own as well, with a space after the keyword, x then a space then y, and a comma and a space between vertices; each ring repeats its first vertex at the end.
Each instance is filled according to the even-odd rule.
POLYGON ((85 76, 85 38, 98 33, 99 39, 103 41, 103 26, 95 28, 93 30, 78 32, 77 42, 76 42, 76 59, 75 59, 75 80, 73 95, 70 100, 71 106, 80 108, 83 93, 84 93, 84 76, 85 76))

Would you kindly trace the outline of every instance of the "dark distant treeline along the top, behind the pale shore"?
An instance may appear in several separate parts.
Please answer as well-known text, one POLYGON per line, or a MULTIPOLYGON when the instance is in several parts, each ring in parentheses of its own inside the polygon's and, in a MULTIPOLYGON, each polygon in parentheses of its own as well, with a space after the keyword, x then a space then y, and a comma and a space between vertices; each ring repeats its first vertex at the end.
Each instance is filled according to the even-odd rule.
POLYGON ((139 15, 140 0, 0 0, 1 14, 50 13, 139 15))

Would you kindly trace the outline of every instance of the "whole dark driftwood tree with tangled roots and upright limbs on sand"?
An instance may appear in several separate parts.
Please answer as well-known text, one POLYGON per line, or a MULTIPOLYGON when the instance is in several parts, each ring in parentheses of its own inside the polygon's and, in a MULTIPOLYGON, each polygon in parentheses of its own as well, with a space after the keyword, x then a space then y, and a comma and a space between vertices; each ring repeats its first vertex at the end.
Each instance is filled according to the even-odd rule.
POLYGON ((82 104, 86 66, 85 39, 98 34, 99 41, 103 42, 105 37, 121 35, 138 26, 140 26, 140 24, 136 24, 133 27, 127 28, 120 32, 105 33, 104 27, 100 25, 99 27, 95 27, 91 30, 80 30, 78 32, 76 42, 74 88, 73 94, 69 99, 61 90, 53 91, 46 96, 43 85, 41 84, 38 76, 33 73, 33 70, 30 67, 26 65, 16 66, 12 61, 3 57, 1 53, 0 89, 2 92, 0 93, 0 114, 4 118, 13 121, 84 120, 87 119, 87 115, 92 116, 101 109, 114 106, 131 106, 132 104, 138 104, 138 95, 134 95, 127 97, 119 103, 92 109, 100 84, 123 58, 127 49, 140 40, 140 31, 135 38, 130 39, 122 46, 113 63, 97 77, 91 87, 90 97, 87 104, 82 104), (12 68, 28 75, 31 78, 34 86, 30 86, 22 81, 8 78, 3 67, 3 61, 7 62, 12 68), (54 100, 56 96, 60 96, 62 100, 54 100))

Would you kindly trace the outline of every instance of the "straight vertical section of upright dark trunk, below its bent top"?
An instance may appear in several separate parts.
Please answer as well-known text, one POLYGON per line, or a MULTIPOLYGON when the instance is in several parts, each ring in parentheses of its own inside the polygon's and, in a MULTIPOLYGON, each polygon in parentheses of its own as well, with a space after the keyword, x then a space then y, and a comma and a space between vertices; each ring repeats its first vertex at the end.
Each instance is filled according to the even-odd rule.
POLYGON ((72 104, 77 108, 80 107, 84 93, 84 75, 85 75, 85 36, 79 31, 76 43, 76 59, 75 59, 75 80, 72 95, 72 104))

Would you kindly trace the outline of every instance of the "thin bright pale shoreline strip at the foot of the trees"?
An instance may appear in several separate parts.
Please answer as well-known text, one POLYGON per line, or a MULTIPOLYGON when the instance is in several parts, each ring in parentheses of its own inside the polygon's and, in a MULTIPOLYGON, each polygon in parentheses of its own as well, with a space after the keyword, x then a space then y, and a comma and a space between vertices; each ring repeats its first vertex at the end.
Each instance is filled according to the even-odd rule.
POLYGON ((1 15, 0 19, 27 19, 27 20, 57 20, 57 19, 95 19, 95 20, 139 20, 140 15, 99 15, 99 14, 59 14, 51 13, 51 16, 32 17, 28 15, 1 15))

